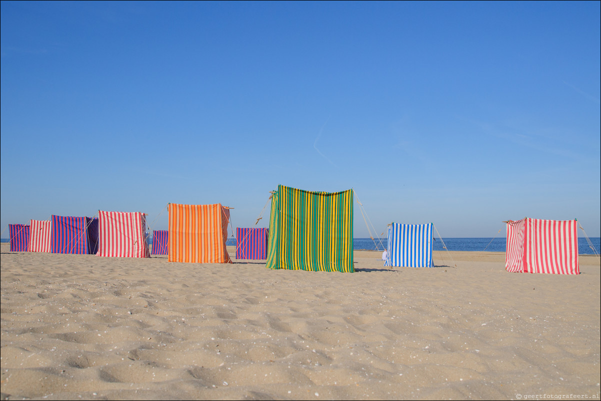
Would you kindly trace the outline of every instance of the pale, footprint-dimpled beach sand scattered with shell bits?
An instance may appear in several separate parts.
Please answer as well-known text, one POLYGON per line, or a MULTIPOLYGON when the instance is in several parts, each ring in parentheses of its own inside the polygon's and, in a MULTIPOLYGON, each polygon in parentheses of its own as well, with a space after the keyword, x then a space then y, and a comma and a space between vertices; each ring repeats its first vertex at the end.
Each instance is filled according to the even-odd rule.
POLYGON ((2 399, 599 399, 597 257, 580 275, 379 257, 344 274, 2 244, 2 399))

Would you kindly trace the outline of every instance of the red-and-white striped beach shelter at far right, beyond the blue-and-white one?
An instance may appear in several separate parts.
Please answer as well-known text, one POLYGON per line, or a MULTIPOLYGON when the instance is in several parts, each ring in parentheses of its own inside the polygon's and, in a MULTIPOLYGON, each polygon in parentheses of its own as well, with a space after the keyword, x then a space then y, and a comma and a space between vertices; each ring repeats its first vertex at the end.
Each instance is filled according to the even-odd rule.
POLYGON ((580 274, 577 225, 576 220, 531 218, 508 222, 505 269, 509 272, 580 274))

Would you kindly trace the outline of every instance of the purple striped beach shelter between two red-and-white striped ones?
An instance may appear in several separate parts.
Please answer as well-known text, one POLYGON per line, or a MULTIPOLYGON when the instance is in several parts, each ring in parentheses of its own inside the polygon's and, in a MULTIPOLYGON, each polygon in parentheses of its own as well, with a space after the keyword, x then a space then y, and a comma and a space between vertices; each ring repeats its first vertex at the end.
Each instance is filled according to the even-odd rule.
MULTIPOLYGON (((50 250, 55 254, 90 254, 88 217, 52 216, 50 250)), ((96 223, 96 238, 97 233, 96 223)))

